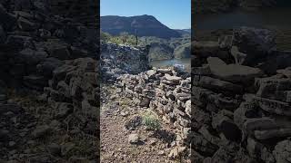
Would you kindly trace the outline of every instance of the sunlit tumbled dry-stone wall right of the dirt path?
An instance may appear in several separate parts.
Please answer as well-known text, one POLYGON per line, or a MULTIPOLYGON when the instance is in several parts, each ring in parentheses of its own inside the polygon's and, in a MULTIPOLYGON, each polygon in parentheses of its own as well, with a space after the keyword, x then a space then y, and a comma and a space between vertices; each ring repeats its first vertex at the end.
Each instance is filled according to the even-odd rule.
MULTIPOLYGON (((115 86, 140 107, 155 110, 162 120, 174 125, 177 134, 174 146, 180 149, 190 146, 191 78, 187 73, 153 69, 137 75, 125 74, 117 78, 115 86)), ((171 158, 176 157, 174 153, 170 153, 171 158)))

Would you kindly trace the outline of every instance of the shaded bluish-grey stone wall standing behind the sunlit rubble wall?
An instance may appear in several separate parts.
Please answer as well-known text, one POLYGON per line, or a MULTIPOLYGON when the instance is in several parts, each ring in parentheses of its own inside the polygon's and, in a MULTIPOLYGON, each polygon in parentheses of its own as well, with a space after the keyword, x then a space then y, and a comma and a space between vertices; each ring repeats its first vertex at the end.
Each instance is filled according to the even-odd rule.
POLYGON ((115 43, 101 44, 102 80, 114 80, 121 74, 136 74, 149 69, 148 47, 132 47, 115 43))

